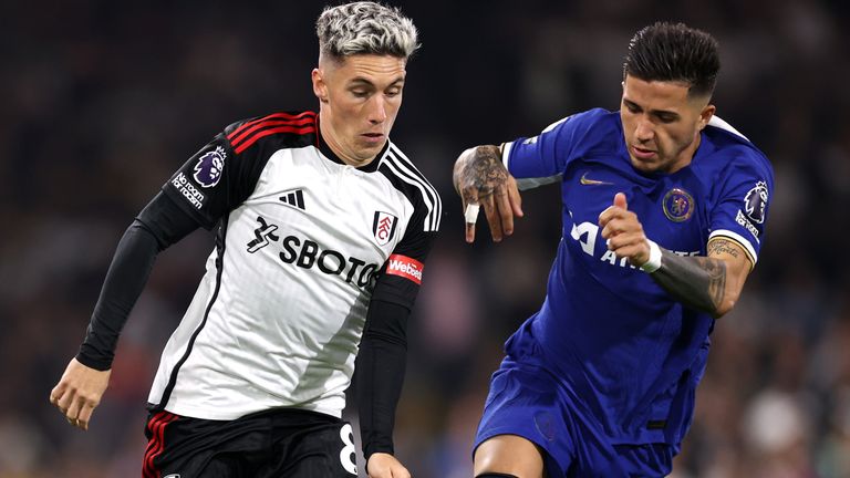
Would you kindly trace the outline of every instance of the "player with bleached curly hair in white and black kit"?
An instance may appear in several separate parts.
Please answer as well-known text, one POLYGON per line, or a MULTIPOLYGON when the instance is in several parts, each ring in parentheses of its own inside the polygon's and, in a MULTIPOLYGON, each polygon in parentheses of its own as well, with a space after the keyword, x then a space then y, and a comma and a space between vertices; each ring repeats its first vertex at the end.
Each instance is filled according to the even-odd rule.
POLYGON ((373 2, 326 8, 318 113, 237 122, 184 164, 113 258, 80 353, 51 392, 87 428, 159 251, 216 229, 148 397, 145 477, 356 475, 341 419, 357 368, 370 476, 410 477, 392 432, 406 323, 442 205, 390 141, 416 29, 373 2))

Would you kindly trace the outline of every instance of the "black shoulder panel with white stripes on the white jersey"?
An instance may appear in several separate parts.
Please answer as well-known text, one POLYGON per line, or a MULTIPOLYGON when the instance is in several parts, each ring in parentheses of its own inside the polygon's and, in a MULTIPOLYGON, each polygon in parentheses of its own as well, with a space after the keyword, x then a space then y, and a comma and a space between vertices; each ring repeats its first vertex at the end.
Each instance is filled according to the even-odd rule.
POLYGON ((419 168, 392 141, 376 160, 379 162, 377 172, 383 174, 417 211, 428 218, 426 230, 437 230, 439 217, 443 214, 443 202, 437 189, 419 168))

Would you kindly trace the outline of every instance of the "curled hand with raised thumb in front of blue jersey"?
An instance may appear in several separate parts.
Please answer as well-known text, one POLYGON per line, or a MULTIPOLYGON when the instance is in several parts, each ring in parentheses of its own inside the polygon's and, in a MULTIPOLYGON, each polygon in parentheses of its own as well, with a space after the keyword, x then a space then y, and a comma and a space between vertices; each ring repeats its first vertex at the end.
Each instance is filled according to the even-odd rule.
POLYGON ((650 260, 650 243, 643 233, 643 226, 638 215, 629 210, 624 194, 614 195, 613 206, 599 215, 599 227, 602 228, 602 238, 608 240, 608 250, 616 257, 629 258, 629 263, 634 267, 650 260))

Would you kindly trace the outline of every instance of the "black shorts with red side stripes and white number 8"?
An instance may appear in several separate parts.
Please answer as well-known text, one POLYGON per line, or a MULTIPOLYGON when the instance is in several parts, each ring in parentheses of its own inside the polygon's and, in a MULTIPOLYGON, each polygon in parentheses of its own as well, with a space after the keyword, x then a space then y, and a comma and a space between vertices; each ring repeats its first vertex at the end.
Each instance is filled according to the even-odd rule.
POLYGON ((356 476, 351 424, 324 414, 267 411, 236 420, 152 413, 144 478, 356 476))

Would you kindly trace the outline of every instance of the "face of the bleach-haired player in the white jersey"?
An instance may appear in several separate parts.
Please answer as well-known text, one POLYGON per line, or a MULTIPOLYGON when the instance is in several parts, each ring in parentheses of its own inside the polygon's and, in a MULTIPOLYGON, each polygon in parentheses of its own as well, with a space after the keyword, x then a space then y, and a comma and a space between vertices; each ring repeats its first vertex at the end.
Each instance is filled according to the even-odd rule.
POLYGON ((405 65, 390 55, 319 60, 312 79, 322 137, 343 162, 369 164, 384 147, 402 106, 405 65))

